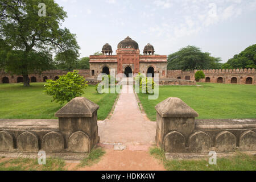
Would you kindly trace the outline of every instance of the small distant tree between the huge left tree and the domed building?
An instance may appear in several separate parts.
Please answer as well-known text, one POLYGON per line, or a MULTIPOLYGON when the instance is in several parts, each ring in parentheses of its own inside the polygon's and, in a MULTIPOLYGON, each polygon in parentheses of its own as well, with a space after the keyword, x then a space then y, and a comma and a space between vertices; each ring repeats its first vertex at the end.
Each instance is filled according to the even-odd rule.
POLYGON ((72 71, 73 69, 77 69, 78 57, 78 52, 67 50, 57 53, 55 61, 59 69, 72 71))

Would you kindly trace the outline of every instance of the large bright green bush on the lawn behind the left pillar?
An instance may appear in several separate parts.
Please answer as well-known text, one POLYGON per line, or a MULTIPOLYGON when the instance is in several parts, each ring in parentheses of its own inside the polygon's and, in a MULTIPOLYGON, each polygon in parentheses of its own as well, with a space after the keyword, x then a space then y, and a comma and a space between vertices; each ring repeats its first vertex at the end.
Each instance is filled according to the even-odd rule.
POLYGON ((64 104, 65 101, 69 102, 75 97, 80 97, 84 94, 82 89, 85 89, 88 81, 79 75, 78 71, 68 72, 67 75, 60 76, 58 80, 47 80, 44 85, 44 92, 53 97, 53 101, 64 104))

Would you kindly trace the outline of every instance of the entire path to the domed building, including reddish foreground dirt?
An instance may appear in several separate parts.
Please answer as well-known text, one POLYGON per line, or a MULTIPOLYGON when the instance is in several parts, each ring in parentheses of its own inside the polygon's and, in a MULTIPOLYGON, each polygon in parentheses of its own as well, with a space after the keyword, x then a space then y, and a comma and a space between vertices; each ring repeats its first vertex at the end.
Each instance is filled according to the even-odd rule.
POLYGON ((109 121, 98 122, 100 145, 106 154, 97 164, 80 170, 164 170, 148 150, 155 143, 156 122, 142 115, 135 94, 127 93, 128 89, 133 86, 123 85, 109 121))

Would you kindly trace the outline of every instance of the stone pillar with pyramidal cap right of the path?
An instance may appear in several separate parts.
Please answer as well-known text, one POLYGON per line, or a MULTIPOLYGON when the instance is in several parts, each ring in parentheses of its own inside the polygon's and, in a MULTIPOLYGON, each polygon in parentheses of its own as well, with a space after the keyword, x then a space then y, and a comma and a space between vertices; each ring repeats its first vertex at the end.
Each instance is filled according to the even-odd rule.
POLYGON ((189 136, 195 132, 199 114, 180 98, 167 98, 155 106, 156 144, 165 152, 185 152, 189 136))

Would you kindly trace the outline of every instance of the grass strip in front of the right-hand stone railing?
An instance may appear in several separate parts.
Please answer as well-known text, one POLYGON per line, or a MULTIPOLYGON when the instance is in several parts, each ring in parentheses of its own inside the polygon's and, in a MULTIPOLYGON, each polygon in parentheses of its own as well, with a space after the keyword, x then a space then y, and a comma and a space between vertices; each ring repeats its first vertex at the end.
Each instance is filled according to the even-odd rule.
POLYGON ((256 171, 256 156, 240 152, 227 158, 217 158, 217 165, 210 165, 209 158, 168 161, 164 151, 157 147, 151 148, 150 154, 160 160, 167 171, 256 171))

